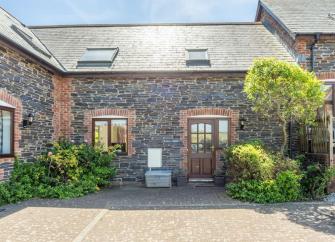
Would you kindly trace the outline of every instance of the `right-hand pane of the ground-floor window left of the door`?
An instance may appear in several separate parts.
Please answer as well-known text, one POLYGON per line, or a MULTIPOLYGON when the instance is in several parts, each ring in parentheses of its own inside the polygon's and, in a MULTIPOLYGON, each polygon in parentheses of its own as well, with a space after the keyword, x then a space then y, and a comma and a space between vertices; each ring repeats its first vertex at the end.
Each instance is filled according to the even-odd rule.
POLYGON ((111 127, 112 145, 121 145, 121 151, 127 152, 127 120, 113 119, 111 127))

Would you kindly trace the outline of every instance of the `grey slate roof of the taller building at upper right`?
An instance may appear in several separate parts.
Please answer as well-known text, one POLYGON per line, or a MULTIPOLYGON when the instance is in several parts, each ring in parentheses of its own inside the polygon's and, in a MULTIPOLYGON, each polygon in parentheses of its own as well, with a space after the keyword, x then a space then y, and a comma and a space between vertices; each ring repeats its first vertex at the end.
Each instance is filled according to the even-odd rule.
POLYGON ((292 34, 335 34, 335 0, 260 0, 260 5, 292 34))

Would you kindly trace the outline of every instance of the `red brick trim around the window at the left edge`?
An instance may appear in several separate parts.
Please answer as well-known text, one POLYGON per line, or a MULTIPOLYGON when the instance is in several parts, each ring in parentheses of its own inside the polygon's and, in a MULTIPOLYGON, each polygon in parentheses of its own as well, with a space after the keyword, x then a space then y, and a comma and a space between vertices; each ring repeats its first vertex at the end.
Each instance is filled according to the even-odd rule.
MULTIPOLYGON (((10 95, 6 90, 0 89, 0 100, 15 107, 14 112, 14 153, 15 156, 21 155, 20 140, 21 130, 20 124, 22 121, 22 102, 20 99, 10 95)), ((0 163, 13 162, 14 158, 0 158, 0 163)), ((0 179, 1 180, 1 179, 0 179)))

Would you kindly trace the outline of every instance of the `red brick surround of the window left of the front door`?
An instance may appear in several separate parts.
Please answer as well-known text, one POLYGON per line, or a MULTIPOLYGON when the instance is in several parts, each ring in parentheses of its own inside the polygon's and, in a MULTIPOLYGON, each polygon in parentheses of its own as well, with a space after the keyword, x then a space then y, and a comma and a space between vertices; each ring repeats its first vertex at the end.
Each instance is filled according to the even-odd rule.
POLYGON ((135 150, 132 145, 133 141, 133 128, 135 127, 135 110, 127 110, 127 109, 112 109, 112 108, 104 108, 104 109, 96 109, 87 111, 84 114, 84 126, 86 128, 85 133, 85 142, 91 144, 92 143, 92 118, 98 116, 122 116, 128 119, 128 155, 131 156, 135 154, 135 150))

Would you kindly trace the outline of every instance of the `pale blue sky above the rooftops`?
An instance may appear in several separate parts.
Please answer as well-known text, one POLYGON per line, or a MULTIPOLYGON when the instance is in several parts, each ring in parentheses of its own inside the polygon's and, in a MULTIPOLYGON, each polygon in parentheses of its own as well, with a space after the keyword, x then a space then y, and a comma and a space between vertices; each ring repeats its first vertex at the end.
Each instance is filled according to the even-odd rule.
POLYGON ((253 21, 258 0, 0 0, 26 25, 253 21))

